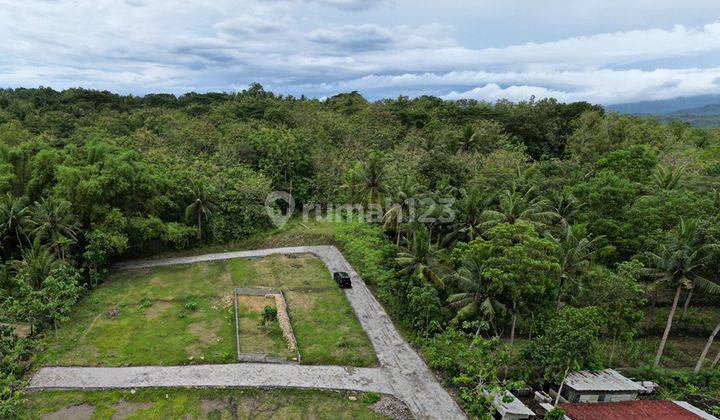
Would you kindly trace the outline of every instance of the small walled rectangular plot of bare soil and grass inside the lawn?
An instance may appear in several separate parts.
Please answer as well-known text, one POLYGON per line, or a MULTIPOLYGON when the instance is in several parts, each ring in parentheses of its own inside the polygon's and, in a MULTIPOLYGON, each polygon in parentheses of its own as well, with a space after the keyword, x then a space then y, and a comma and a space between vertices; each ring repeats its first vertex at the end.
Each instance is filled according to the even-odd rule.
POLYGON ((266 296, 238 295, 238 331, 240 353, 265 354, 291 360, 290 351, 277 321, 260 326, 262 311, 266 306, 275 308, 275 298, 266 296))

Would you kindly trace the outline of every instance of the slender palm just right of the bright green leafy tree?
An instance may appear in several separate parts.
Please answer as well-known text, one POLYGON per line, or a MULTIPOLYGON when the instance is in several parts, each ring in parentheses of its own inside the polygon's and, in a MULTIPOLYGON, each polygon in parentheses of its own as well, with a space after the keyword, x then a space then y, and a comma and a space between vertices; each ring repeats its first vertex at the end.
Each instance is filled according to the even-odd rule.
POLYGON ((556 307, 560 309, 563 289, 568 285, 576 285, 578 280, 590 267, 597 243, 602 236, 590 239, 580 226, 564 225, 563 236, 558 243, 558 259, 560 261, 560 286, 558 287, 556 307))

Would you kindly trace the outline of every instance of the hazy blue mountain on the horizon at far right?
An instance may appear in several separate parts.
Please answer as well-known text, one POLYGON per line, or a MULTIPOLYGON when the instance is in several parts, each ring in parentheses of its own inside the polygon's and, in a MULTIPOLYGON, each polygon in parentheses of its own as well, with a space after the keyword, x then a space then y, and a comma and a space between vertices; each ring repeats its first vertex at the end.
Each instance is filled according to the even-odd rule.
POLYGON ((695 127, 720 127, 720 95, 616 104, 605 109, 622 114, 657 115, 664 121, 685 121, 695 127))

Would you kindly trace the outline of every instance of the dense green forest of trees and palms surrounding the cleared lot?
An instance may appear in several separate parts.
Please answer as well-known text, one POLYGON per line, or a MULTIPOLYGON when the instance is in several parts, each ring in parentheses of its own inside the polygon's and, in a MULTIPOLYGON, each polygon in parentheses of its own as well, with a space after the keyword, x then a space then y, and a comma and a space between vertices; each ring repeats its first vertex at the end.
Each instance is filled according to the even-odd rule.
MULTIPOLYGON (((471 414, 642 335, 662 365, 678 319, 718 302, 719 174, 720 130, 588 103, 0 90, 0 417, 113 263, 270 229, 274 190, 394 203, 339 244, 471 414), (448 198, 451 222, 408 214, 448 198)), ((714 372, 646 369, 720 389, 714 372)))

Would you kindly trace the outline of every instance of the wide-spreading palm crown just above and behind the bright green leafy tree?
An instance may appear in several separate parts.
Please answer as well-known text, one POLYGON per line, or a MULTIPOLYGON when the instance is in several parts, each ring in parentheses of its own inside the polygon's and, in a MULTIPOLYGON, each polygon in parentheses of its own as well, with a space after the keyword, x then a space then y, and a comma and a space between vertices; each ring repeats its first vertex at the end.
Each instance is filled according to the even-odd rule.
POLYGON ((498 199, 498 210, 486 210, 483 212, 484 227, 492 227, 499 223, 514 224, 518 220, 525 220, 535 225, 542 225, 544 222, 557 217, 557 214, 550 210, 546 200, 534 195, 535 187, 530 187, 524 193, 516 187, 512 190, 505 190, 500 193, 498 199))

